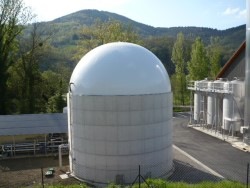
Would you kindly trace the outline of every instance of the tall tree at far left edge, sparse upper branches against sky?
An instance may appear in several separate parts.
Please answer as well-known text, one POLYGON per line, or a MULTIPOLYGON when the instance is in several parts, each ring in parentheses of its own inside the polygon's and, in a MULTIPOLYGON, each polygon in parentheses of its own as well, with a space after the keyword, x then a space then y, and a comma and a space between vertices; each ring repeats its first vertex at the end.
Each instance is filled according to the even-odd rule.
POLYGON ((7 113, 8 69, 15 62, 16 39, 31 19, 22 0, 0 0, 0 114, 7 113))

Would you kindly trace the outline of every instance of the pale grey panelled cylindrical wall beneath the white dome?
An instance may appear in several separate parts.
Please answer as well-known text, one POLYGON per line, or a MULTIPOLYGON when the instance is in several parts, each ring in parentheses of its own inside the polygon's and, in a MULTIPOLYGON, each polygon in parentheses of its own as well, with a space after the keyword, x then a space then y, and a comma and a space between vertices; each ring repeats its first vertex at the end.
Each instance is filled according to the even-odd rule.
POLYGON ((162 177, 172 168, 172 94, 71 96, 72 171, 107 183, 162 177))

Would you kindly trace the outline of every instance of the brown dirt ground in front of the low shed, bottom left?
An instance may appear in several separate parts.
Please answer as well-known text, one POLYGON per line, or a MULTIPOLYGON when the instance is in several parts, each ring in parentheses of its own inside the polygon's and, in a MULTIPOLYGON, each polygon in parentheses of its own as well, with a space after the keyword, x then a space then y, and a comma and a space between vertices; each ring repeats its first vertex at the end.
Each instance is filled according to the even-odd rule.
POLYGON ((68 157, 64 156, 62 162, 63 167, 59 168, 58 157, 53 156, 0 160, 0 188, 40 187, 42 181, 44 185, 80 184, 81 182, 72 177, 61 179, 60 175, 69 171, 68 157), (54 175, 47 178, 45 177, 45 173, 51 167, 55 170, 54 175))

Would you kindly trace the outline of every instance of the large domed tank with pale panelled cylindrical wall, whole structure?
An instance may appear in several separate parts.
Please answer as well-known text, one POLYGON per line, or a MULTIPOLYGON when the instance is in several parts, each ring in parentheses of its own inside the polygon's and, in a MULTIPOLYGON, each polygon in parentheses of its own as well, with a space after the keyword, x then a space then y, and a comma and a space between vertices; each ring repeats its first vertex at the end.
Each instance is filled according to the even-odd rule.
POLYGON ((77 64, 69 92, 70 169, 96 184, 164 177, 173 168, 168 73, 131 43, 95 48, 77 64))

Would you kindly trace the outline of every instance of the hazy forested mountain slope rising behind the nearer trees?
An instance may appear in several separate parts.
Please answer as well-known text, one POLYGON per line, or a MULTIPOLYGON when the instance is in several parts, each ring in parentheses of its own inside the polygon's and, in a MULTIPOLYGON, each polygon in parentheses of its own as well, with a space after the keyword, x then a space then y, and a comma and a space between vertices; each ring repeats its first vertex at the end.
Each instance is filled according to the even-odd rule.
MULTIPOLYGON (((43 35, 49 36, 52 33, 49 42, 56 49, 58 57, 63 57, 63 61, 72 66, 72 64, 76 63, 75 60, 72 60, 72 57, 78 48, 77 45, 79 44, 82 29, 94 24, 97 20, 100 22, 116 20, 124 25, 131 26, 140 35, 143 41, 148 41, 145 47, 153 51, 161 59, 170 73, 173 73, 174 70, 174 65, 171 61, 172 47, 179 32, 182 32, 185 39, 188 39, 187 41, 190 48, 197 37, 201 37, 205 46, 209 45, 211 37, 219 37, 220 45, 223 48, 222 65, 224 65, 245 40, 246 35, 245 25, 226 30, 205 27, 157 28, 135 22, 115 13, 98 10, 82 10, 40 24, 45 31, 43 35)), ((53 62, 55 64, 56 62, 61 63, 62 60, 47 59, 47 62, 53 62)))

